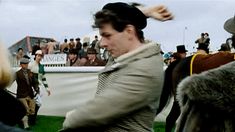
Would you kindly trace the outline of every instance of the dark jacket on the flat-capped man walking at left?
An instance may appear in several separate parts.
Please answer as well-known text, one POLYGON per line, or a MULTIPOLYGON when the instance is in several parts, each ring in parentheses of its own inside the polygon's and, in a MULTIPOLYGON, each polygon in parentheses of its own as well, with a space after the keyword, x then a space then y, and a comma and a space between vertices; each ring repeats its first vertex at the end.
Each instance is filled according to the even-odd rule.
POLYGON ((20 69, 16 72, 16 82, 17 82, 17 98, 25 98, 27 96, 33 98, 33 87, 36 87, 36 83, 33 79, 33 73, 27 69, 28 77, 29 77, 29 84, 24 76, 23 70, 20 69))

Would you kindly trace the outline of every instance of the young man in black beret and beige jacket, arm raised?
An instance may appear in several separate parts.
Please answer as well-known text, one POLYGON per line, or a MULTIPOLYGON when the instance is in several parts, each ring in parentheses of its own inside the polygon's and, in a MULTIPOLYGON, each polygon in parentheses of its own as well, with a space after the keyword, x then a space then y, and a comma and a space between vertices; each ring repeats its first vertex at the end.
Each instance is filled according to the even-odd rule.
POLYGON ((160 45, 145 43, 146 16, 126 3, 108 3, 94 15, 100 46, 111 57, 93 99, 66 114, 64 131, 149 132, 163 83, 160 45))

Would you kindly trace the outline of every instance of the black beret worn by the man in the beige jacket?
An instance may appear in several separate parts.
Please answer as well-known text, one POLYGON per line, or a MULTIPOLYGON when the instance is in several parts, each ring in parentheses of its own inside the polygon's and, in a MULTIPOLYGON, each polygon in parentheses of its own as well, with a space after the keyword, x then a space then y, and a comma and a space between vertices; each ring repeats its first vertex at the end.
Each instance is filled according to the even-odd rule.
POLYGON ((122 2, 108 3, 102 10, 109 10, 123 20, 130 22, 137 29, 144 29, 147 25, 146 16, 136 7, 122 2))

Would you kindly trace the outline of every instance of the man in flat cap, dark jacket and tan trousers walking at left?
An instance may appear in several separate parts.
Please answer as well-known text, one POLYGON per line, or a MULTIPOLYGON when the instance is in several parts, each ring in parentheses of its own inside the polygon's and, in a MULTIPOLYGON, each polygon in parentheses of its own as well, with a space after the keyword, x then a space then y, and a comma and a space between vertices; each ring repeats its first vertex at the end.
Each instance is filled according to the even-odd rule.
POLYGON ((29 129, 28 116, 35 112, 35 101, 33 99, 33 88, 38 92, 36 82, 33 78, 33 73, 28 69, 29 59, 23 57, 20 59, 21 69, 16 72, 17 93, 16 97, 22 102, 27 111, 23 117, 24 129, 29 129))

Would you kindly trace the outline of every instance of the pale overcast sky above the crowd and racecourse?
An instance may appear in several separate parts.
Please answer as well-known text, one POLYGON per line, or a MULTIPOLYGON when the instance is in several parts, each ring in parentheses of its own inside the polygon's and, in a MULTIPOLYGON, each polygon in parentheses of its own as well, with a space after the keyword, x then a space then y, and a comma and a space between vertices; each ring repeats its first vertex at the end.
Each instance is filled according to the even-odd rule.
MULTIPOLYGON (((0 40, 11 46, 25 36, 50 37, 58 41, 84 37, 94 30, 92 15, 117 0, 0 0, 0 40)), ((119 0, 146 6, 164 4, 174 14, 168 22, 148 20, 145 38, 161 44, 163 51, 176 51, 185 44, 189 51, 202 32, 208 32, 212 50, 231 35, 224 22, 234 16, 234 0, 119 0)))

